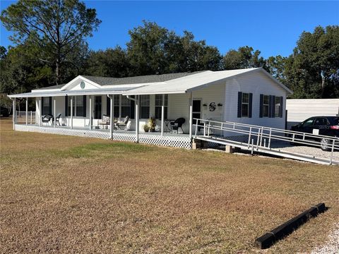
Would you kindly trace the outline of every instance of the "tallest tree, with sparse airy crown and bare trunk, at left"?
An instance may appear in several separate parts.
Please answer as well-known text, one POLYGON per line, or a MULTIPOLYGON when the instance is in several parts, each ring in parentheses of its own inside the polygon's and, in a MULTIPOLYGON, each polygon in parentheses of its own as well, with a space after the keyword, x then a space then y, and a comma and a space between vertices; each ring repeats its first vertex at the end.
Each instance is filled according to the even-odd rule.
MULTIPOLYGON (((55 80, 62 80, 62 67, 73 49, 92 36, 100 20, 93 8, 78 0, 19 0, 1 12, 1 21, 14 32, 16 44, 37 44, 55 68, 55 80)), ((30 52, 27 52, 30 54, 30 52)))

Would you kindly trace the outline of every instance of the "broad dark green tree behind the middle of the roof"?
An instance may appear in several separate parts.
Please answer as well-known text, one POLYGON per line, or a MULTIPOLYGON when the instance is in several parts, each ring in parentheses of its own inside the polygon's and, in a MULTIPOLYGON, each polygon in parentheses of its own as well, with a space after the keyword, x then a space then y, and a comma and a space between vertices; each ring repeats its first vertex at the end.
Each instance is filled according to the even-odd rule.
POLYGON ((127 56, 131 63, 130 75, 150 75, 185 71, 217 71, 222 57, 216 47, 204 40, 195 41, 191 32, 175 34, 156 23, 143 22, 129 31, 127 56))

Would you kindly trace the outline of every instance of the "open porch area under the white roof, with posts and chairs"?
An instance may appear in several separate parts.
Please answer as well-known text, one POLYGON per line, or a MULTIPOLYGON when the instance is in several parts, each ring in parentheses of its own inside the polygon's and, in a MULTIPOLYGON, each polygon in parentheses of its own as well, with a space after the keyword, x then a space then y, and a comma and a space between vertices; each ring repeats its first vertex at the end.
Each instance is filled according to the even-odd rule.
MULTIPOLYGON (((183 97, 172 95, 171 99, 175 100, 178 96, 183 97)), ((145 125, 153 119, 153 132, 146 135, 174 136, 176 133, 175 136, 189 138, 192 135, 192 97, 184 96, 186 103, 172 103, 173 107, 169 107, 169 95, 72 95, 68 92, 64 96, 23 98, 26 110, 13 111, 16 130, 16 126, 23 123, 40 128, 98 131, 109 137, 113 137, 114 133, 126 133, 128 136, 133 133, 133 141, 139 142, 139 134, 145 133, 145 125), (35 99, 35 111, 28 111, 28 99, 35 99), (177 109, 182 106, 186 106, 186 110, 177 109), (46 116, 49 116, 47 121, 46 116), (174 129, 171 122, 179 118, 184 123, 174 129)), ((16 97, 13 98, 13 109, 16 109, 15 105, 16 97)), ((198 108, 201 109, 201 101, 198 108)))

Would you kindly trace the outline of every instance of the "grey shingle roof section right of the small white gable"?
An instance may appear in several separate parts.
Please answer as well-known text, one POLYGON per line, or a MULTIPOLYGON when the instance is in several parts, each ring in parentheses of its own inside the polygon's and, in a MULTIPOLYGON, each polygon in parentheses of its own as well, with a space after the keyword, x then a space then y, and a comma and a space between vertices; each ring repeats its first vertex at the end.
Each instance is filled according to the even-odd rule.
POLYGON ((81 75, 83 78, 87 78, 98 85, 126 85, 126 84, 141 84, 141 83, 156 83, 156 82, 165 82, 167 80, 173 80, 175 78, 182 78, 188 75, 193 75, 201 71, 195 71, 191 73, 169 73, 161 75, 142 75, 135 77, 126 77, 126 78, 108 78, 108 77, 96 77, 81 75))

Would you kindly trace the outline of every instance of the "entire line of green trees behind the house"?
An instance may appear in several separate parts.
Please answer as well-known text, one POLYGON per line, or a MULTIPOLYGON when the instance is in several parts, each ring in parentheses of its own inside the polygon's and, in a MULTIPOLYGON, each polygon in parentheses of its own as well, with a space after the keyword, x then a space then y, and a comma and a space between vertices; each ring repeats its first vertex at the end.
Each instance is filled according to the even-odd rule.
POLYGON ((67 83, 76 75, 127 77, 193 71, 262 67, 294 91, 292 98, 339 97, 339 26, 302 32, 290 56, 264 59, 249 46, 230 49, 178 35, 157 23, 129 30, 120 46, 91 50, 86 38, 101 21, 78 0, 20 0, 1 13, 15 47, 0 47, 0 92, 29 92, 67 83))

